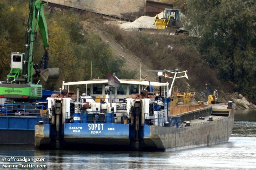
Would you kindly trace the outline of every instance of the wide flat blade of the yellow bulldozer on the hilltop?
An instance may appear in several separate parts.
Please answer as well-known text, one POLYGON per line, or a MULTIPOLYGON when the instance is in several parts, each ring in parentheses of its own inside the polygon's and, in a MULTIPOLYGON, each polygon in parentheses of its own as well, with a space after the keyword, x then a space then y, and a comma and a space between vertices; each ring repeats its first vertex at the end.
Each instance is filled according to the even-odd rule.
POLYGON ((175 28, 171 29, 154 29, 154 28, 138 28, 137 32, 139 33, 148 33, 148 34, 160 34, 160 35, 176 35, 175 28))

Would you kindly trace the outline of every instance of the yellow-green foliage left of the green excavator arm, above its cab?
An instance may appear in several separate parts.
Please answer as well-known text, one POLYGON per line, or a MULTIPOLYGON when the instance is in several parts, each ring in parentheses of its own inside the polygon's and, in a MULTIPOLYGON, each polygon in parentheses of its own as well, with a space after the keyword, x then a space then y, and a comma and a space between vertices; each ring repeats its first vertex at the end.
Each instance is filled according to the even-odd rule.
POLYGON ((1 80, 10 72, 11 53, 24 51, 28 5, 19 6, 19 3, 24 1, 0 1, 1 80))

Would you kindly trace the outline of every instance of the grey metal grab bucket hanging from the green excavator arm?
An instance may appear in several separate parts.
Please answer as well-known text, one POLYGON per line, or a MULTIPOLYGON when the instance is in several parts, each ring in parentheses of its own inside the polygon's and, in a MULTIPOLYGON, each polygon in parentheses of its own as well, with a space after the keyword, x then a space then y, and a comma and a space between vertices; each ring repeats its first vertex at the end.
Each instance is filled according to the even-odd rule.
POLYGON ((44 81, 53 82, 58 80, 60 76, 60 71, 59 68, 47 68, 40 71, 39 74, 44 79, 44 81))

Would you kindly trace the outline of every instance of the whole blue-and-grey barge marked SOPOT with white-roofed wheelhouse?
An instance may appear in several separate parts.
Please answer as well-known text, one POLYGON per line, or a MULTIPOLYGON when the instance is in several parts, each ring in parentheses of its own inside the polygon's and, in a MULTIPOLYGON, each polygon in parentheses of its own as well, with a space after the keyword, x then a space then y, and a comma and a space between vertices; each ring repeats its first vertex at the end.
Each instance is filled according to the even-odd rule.
POLYGON ((228 141, 234 124, 232 107, 215 111, 207 105, 172 106, 174 81, 170 89, 168 82, 117 81, 116 88, 108 85, 108 79, 63 82, 64 96, 70 85, 86 90, 79 96, 77 88, 76 100, 47 98, 48 113, 35 126, 35 146, 174 151, 228 141), (153 89, 159 87, 163 92, 156 95, 153 89))

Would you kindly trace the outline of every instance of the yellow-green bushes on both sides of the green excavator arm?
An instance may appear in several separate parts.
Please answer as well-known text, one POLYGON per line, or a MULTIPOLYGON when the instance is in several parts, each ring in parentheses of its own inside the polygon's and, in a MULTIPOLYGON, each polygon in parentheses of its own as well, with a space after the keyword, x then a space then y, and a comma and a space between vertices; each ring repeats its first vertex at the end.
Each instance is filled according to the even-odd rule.
MULTIPOLYGON (((62 81, 82 81, 92 78, 107 78, 107 73, 116 72, 134 78, 134 73, 122 68, 123 60, 115 59, 111 48, 99 37, 83 29, 80 21, 84 16, 72 10, 54 11, 44 7, 48 26, 50 67, 60 68, 60 78, 54 83, 42 85, 46 89, 59 89, 62 81)), ((0 51, 1 80, 10 71, 11 52, 24 52, 24 35, 28 19, 28 0, 0 1, 0 51), (11 23, 11 24, 10 24, 11 23)), ((44 54, 41 36, 34 43, 34 62, 38 63, 44 54)), ((119 76, 119 77, 120 77, 119 76)), ((121 78, 121 77, 120 77, 121 78)))

